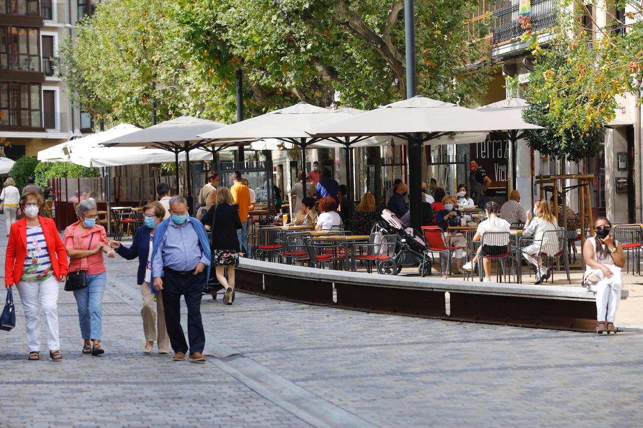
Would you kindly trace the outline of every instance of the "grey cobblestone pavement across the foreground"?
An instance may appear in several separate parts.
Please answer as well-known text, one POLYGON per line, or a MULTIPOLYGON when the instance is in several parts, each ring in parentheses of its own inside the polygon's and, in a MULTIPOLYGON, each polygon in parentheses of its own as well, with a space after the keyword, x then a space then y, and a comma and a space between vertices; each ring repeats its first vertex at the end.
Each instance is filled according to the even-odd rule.
POLYGON ((143 356, 136 262, 108 259, 107 269, 103 357, 80 354, 76 306, 61 289, 65 359, 26 361, 17 303, 17 328, 0 332, 0 426, 638 427, 643 420, 637 328, 598 337, 238 292, 231 306, 204 296, 212 356, 188 364, 143 356))

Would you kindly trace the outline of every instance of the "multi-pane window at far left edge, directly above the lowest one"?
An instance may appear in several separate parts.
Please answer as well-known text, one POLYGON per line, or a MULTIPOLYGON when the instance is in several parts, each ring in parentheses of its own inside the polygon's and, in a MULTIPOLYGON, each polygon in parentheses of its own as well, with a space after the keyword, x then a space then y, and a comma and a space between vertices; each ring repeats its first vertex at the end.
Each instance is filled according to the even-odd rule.
POLYGON ((0 69, 40 71, 38 29, 0 27, 0 69))

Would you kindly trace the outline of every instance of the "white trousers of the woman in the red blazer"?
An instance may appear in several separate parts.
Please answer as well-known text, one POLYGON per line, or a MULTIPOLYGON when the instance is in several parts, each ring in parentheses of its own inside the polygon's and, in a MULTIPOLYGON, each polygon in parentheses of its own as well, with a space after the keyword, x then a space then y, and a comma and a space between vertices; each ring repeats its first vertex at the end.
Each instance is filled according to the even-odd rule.
POLYGON ((24 307, 24 326, 27 329, 29 352, 40 351, 40 311, 47 327, 47 344, 50 350, 60 349, 58 333, 58 290, 55 276, 44 281, 20 281, 16 284, 24 307))

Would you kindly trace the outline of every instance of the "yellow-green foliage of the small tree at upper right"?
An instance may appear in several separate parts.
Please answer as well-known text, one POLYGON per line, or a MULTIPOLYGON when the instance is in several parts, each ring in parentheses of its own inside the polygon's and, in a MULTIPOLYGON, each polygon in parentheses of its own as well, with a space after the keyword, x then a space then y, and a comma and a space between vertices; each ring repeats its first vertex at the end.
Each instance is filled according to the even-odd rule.
POLYGON ((541 153, 572 161, 596 156, 604 125, 619 107, 617 95, 641 88, 643 1, 608 0, 604 25, 597 10, 592 2, 562 0, 548 48, 539 46, 535 32, 523 36, 532 41, 536 56, 525 93, 531 107, 523 118, 547 128, 527 132, 530 145, 541 153), (615 13, 625 6, 627 23, 615 13))

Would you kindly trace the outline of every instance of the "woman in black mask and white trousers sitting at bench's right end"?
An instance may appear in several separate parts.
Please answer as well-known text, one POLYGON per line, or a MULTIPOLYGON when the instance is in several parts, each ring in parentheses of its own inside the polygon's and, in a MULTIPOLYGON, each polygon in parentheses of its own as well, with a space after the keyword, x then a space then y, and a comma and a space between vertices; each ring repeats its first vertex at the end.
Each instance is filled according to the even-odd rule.
POLYGON ((587 238, 583 245, 583 259, 587 265, 584 281, 596 294, 597 334, 616 334, 614 319, 623 289, 620 270, 625 265, 625 255, 620 242, 610 234, 610 220, 599 217, 593 226, 595 236, 587 238))

